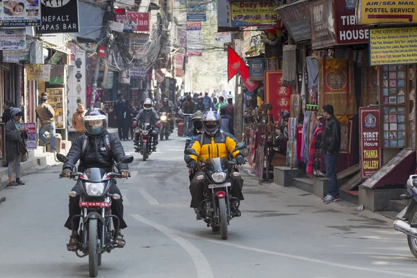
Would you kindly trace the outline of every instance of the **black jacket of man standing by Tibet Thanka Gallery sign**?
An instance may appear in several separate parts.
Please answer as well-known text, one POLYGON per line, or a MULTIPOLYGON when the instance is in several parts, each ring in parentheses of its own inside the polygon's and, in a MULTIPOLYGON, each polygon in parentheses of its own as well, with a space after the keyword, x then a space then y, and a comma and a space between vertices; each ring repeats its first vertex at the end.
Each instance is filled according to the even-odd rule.
POLYGON ((341 123, 334 117, 326 121, 322 135, 321 149, 330 154, 338 153, 341 150, 341 123))

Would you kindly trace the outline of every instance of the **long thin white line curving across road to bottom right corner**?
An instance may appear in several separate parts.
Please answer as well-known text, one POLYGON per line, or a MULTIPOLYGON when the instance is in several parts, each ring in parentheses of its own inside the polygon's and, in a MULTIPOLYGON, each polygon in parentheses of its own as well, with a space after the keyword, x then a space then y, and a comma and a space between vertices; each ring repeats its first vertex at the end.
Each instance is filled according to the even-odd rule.
MULTIPOLYGON (((361 266, 356 266, 356 265, 347 265, 344 263, 332 263, 329 261, 323 261, 323 260, 319 260, 319 259, 312 259, 306 256, 297 256, 297 255, 293 255, 293 254, 286 254, 286 253, 281 253, 281 252, 275 252, 275 251, 270 251, 270 250, 263 250, 263 249, 259 249, 259 248, 254 248, 254 247, 247 247, 245 245, 238 245, 235 243, 228 243, 224 240, 213 240, 210 238, 205 238, 204 236, 195 236, 193 234, 188 234, 185 233, 183 231, 178 231, 175 229, 171 229, 169 227, 165 227, 161 224, 157 224, 154 222, 151 222, 149 220, 147 220, 146 218, 142 218, 142 216, 140 215, 131 215, 133 218, 136 218, 136 220, 139 220, 140 222, 144 222, 144 223, 149 223, 149 225, 155 227, 156 229, 162 231, 161 229, 164 229, 165 231, 170 231, 171 234, 175 234, 177 236, 183 236, 183 237, 188 237, 188 238, 195 238, 195 239, 199 239, 199 240, 205 240, 211 243, 215 243, 216 245, 226 245, 229 247, 236 247, 239 249, 243 249, 243 250, 249 250, 249 251, 254 251, 254 252, 259 252, 259 253, 263 253, 263 254, 270 254, 270 255, 275 255, 275 256, 283 256, 286 258, 290 258, 290 259, 296 259, 299 261, 307 261, 309 263, 319 263, 322 265, 329 265, 329 266, 335 266, 338 268, 347 268, 350 270, 361 270, 361 271, 365 271, 365 272, 376 272, 376 273, 382 273, 382 274, 386 274, 386 275, 393 275, 393 277, 414 277, 417 278, 417 275, 412 275, 409 273, 404 273, 404 272, 395 272, 395 271, 390 271, 390 270, 379 270, 379 269, 375 269, 375 268, 365 268, 365 267, 361 267, 361 266), (161 228, 161 229, 160 229, 161 228)), ((165 233, 164 233, 165 234, 165 233)), ((198 269, 198 268, 197 268, 198 269)))

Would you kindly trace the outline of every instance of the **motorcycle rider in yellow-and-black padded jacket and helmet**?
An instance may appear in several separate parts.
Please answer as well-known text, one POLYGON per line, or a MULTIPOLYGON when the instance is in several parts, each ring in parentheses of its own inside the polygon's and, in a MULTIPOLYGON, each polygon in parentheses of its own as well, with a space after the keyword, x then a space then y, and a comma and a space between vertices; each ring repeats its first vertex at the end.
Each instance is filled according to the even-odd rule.
MULTIPOLYGON (((204 114, 202 125, 204 133, 195 136, 191 140, 188 147, 193 148, 195 152, 204 158, 229 157, 229 154, 234 150, 238 140, 229 133, 221 131, 222 119, 215 111, 208 111, 204 114)), ((236 151, 232 154, 236 159, 238 165, 245 164, 245 154, 242 150, 236 151)), ((204 176, 202 170, 198 170, 197 162, 201 161, 198 156, 185 156, 185 161, 191 170, 195 170, 193 180, 190 185, 191 204, 190 207, 197 208, 197 219, 204 218, 203 212, 199 211, 199 204, 204 200, 204 179, 199 177, 204 176)), ((243 200, 242 188, 243 179, 240 175, 233 175, 231 178, 232 187, 230 194, 239 200, 243 200)), ((231 202, 232 213, 235 216, 240 216, 240 211, 236 208, 237 202, 231 202)))

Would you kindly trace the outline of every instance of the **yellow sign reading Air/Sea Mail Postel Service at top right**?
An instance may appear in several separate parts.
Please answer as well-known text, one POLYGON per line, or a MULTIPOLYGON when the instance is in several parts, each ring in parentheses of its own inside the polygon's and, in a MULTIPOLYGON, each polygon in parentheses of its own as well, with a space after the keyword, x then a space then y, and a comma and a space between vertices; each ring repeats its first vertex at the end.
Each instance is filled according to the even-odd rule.
POLYGON ((417 0, 361 0, 359 24, 416 23, 417 0))

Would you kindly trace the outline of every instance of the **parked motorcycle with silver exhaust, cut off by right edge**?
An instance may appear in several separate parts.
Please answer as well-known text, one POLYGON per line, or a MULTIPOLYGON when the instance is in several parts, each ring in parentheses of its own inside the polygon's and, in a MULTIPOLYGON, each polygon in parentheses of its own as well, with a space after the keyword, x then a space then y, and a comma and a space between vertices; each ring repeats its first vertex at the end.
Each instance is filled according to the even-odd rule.
POLYGON ((409 194, 400 196, 403 200, 409 200, 409 204, 401 211, 394 222, 394 229, 407 234, 407 241, 411 253, 417 258, 417 174, 412 174, 407 181, 409 194))

